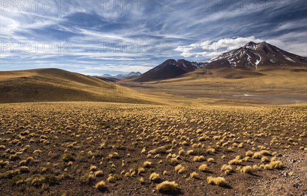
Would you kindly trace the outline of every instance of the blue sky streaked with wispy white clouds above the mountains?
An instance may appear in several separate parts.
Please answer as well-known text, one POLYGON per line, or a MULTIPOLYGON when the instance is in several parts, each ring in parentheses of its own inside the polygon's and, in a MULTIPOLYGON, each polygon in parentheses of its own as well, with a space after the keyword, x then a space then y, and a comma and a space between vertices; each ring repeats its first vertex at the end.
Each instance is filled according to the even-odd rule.
POLYGON ((0 27, 1 70, 145 72, 169 58, 205 61, 249 41, 307 56, 304 0, 1 0, 0 27))

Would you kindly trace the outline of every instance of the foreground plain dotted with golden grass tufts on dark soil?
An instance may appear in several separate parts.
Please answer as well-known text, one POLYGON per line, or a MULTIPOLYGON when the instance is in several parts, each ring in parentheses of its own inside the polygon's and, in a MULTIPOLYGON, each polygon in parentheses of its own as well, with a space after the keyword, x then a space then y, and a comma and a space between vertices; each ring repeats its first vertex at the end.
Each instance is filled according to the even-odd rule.
POLYGON ((282 170, 307 179, 279 156, 306 157, 306 104, 0 106, 4 195, 244 195, 282 170))

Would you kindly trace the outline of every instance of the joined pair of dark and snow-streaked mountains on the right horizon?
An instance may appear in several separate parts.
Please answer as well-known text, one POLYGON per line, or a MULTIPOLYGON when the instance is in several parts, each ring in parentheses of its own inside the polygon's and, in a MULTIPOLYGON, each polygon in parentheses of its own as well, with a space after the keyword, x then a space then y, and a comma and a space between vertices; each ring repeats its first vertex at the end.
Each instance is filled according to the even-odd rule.
POLYGON ((307 58, 288 53, 266 42, 249 42, 243 47, 221 54, 205 62, 190 62, 184 59, 168 59, 150 69, 136 82, 176 78, 195 69, 239 68, 250 71, 259 66, 307 66, 307 58))

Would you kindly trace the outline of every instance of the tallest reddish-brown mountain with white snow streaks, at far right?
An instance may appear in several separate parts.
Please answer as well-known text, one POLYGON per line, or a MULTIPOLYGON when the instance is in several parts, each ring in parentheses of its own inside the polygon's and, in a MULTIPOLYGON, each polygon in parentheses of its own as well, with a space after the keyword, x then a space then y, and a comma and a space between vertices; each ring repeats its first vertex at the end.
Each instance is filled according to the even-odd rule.
POLYGON ((262 65, 306 66, 307 58, 288 53, 266 42, 249 42, 243 47, 221 54, 205 62, 205 68, 245 67, 257 69, 262 65))

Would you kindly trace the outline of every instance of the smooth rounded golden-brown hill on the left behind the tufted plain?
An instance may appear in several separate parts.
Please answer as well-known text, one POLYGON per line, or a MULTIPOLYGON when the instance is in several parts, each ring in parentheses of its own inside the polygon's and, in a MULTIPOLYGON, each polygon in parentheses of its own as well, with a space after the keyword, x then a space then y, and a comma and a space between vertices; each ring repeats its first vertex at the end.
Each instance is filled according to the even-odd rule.
POLYGON ((101 79, 61 69, 0 71, 0 103, 98 101, 151 103, 101 79))

